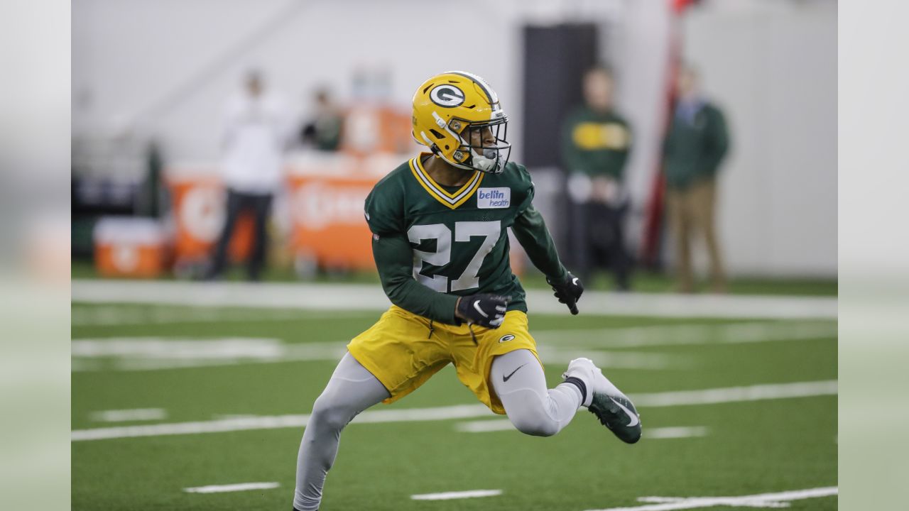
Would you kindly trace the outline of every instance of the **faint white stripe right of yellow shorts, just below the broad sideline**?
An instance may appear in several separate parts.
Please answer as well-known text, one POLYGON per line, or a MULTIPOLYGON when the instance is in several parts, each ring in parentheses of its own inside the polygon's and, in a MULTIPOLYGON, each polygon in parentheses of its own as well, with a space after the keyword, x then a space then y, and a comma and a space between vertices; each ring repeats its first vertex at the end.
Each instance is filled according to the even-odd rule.
POLYGON ((659 325, 624 328, 534 330, 537 341, 558 341, 559 346, 624 348, 761 343, 836 337, 833 321, 759 322, 721 325, 659 325))

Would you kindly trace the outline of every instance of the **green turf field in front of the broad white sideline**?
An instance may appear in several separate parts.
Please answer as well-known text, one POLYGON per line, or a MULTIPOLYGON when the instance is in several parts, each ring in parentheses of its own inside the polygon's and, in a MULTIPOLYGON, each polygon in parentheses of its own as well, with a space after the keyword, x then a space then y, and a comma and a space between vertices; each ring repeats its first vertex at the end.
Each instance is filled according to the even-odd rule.
MULTIPOLYGON (((124 426, 107 429, 106 435, 147 436, 74 440, 73 508, 289 510, 303 427, 286 425, 309 413, 345 340, 377 317, 356 311, 74 304, 74 439, 85 430, 124 426), (100 414, 135 409, 152 417, 110 422, 115 414, 100 414), (198 423, 190 428, 239 430, 164 435, 172 426, 155 429, 187 422, 198 423), (185 491, 250 482, 278 486, 185 491)), ((323 510, 674 509, 683 507, 653 507, 659 505, 638 499, 752 496, 837 485, 836 396, 823 391, 837 378, 833 321, 531 315, 530 326, 550 385, 560 380, 569 358, 586 353, 625 393, 641 396, 640 443, 622 444, 584 410, 550 438, 498 429, 504 423, 488 421, 501 419, 475 406, 448 367, 415 394, 377 408, 438 407, 439 416, 452 410, 468 410, 468 416, 420 422, 401 414, 394 422, 361 416, 363 422, 345 429, 323 510), (788 385, 805 382, 826 383, 788 385), (771 384, 786 385, 663 394, 771 384), (794 396, 780 397, 785 393, 794 396), (702 404, 685 404, 693 399, 702 404), (462 405, 467 407, 454 408, 462 405), (496 430, 464 431, 481 422, 496 430), (502 493, 411 498, 479 489, 502 493)), ((716 508, 755 504, 735 502, 716 508)), ((835 509, 836 503, 835 496, 788 502, 792 509, 835 509)))

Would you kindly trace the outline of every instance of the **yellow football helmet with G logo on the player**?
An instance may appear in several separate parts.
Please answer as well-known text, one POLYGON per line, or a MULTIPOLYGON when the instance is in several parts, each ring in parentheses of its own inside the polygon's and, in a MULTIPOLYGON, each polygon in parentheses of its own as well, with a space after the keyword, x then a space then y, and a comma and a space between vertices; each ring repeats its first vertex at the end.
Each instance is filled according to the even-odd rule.
POLYGON ((508 117, 477 75, 449 71, 426 80, 414 95, 413 122, 417 144, 451 165, 498 174, 508 163, 508 117))

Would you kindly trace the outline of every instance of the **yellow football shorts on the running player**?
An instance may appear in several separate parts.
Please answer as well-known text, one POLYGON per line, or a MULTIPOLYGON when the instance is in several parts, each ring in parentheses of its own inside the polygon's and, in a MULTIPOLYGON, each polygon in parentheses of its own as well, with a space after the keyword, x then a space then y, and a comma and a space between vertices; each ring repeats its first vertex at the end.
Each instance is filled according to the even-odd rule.
POLYGON ((454 364, 461 383, 496 414, 504 414, 489 371, 495 356, 516 349, 529 349, 539 360, 534 337, 527 331, 527 315, 508 311, 496 329, 472 328, 473 336, 466 324, 430 322, 392 306, 374 326, 356 336, 347 350, 388 389, 391 397, 385 404, 414 392, 439 369, 454 364))

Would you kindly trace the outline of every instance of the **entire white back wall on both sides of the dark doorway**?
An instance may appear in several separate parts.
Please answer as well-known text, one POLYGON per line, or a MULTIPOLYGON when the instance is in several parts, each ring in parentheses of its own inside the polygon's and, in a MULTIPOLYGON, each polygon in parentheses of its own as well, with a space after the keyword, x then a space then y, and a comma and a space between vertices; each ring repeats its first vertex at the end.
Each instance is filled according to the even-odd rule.
MULTIPOLYGON (((429 75, 453 68, 482 75, 514 120, 510 138, 520 141, 522 25, 611 17, 619 100, 638 141, 649 140, 630 168, 643 198, 654 171, 644 148, 658 144, 654 116, 664 101, 664 5, 74 0, 74 133, 133 126, 162 139, 172 159, 213 160, 222 106, 245 69, 262 69, 302 113, 315 86, 331 85, 344 100, 355 69, 367 66, 390 70, 390 96, 405 107, 429 75), (253 36, 263 26, 272 28, 253 36)), ((686 53, 734 130, 721 205, 734 273, 835 274, 835 21, 834 2, 724 0, 688 15, 686 53)), ((514 157, 520 161, 520 146, 514 157)))

